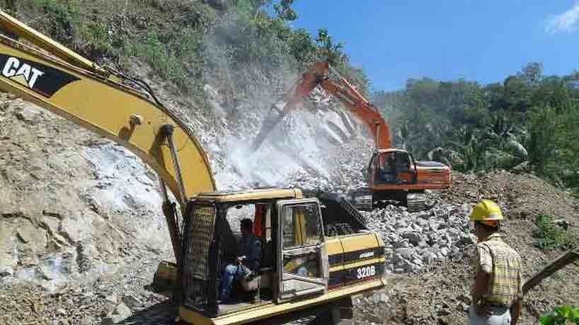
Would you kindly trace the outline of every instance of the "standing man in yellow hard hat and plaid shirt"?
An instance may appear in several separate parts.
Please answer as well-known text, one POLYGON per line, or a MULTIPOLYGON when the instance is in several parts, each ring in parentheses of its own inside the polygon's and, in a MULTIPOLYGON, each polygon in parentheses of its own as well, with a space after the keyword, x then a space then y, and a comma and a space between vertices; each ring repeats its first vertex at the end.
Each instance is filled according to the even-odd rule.
POLYGON ((521 257, 499 234, 503 213, 497 203, 482 200, 474 206, 475 278, 471 290, 471 325, 515 325, 522 302, 521 257))

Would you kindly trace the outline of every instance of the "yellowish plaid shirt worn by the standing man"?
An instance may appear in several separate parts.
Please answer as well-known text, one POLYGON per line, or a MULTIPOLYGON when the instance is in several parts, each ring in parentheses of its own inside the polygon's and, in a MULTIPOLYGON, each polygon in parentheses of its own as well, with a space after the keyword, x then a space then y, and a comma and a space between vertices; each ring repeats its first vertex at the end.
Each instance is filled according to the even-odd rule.
POLYGON ((489 293, 483 296, 483 300, 510 307, 512 302, 522 297, 521 257, 498 234, 476 244, 476 252, 476 271, 484 266, 492 270, 489 293))

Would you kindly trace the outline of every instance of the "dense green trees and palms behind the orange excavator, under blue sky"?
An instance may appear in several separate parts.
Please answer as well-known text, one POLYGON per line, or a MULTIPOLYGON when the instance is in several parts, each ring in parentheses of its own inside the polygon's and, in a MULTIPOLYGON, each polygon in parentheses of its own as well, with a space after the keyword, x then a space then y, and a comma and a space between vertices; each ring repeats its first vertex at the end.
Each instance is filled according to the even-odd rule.
POLYGON ((531 171, 579 187, 578 73, 544 76, 530 63, 502 83, 480 85, 408 79, 374 102, 394 129, 397 146, 455 170, 531 171))

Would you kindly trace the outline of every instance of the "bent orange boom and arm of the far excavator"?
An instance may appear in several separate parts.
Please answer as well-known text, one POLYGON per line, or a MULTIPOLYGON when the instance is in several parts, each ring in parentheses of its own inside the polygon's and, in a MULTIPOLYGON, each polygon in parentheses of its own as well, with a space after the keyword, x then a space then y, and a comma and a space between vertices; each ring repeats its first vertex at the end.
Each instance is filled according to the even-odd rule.
POLYGON ((343 76, 333 69, 328 62, 317 62, 312 68, 304 73, 302 78, 282 98, 282 110, 274 105, 268 117, 262 124, 256 139, 251 146, 257 150, 275 126, 292 110, 296 109, 302 100, 317 86, 321 86, 328 93, 338 98, 352 114, 360 119, 368 128, 377 149, 391 148, 390 130, 384 118, 371 102, 369 102, 356 88, 343 76), (328 78, 328 71, 332 70, 338 76, 338 82, 328 78))

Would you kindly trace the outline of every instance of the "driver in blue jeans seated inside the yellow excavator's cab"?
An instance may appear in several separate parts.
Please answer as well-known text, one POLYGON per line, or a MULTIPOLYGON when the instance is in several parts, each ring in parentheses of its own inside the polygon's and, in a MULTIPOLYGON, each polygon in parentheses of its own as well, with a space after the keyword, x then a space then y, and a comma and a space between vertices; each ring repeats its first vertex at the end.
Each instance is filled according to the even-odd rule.
POLYGON ((233 280, 239 280, 249 276, 252 271, 258 271, 261 261, 261 242, 258 237, 253 235, 253 222, 250 219, 241 220, 241 256, 236 257, 235 264, 229 264, 225 267, 221 281, 222 303, 231 302, 231 287, 233 280))

